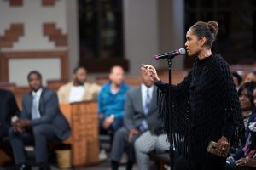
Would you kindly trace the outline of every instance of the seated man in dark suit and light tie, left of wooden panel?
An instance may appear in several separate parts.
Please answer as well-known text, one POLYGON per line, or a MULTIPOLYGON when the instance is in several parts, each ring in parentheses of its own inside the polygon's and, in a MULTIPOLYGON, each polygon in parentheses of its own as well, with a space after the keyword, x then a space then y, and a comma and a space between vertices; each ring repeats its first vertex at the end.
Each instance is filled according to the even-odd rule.
POLYGON ((70 127, 62 115, 54 91, 42 87, 38 71, 31 71, 27 80, 32 90, 22 98, 20 119, 9 129, 9 140, 18 169, 30 169, 26 164, 24 142, 34 139, 36 162, 40 169, 50 169, 47 142, 67 139, 70 127))

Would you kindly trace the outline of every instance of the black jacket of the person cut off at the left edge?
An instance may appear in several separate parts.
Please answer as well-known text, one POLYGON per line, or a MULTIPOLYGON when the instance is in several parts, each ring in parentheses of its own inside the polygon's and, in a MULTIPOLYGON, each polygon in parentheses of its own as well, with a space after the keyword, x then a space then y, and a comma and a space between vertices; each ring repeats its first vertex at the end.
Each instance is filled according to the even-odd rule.
POLYGON ((11 127, 11 117, 19 116, 20 110, 15 96, 9 90, 0 89, 0 138, 7 135, 11 127))

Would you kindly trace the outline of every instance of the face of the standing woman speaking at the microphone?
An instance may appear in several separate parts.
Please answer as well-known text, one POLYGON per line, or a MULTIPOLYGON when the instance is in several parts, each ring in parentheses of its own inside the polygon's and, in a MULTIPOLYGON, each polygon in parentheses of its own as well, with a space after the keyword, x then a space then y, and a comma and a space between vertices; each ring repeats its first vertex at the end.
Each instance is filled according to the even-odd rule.
POLYGON ((191 29, 186 34, 186 43, 185 48, 187 49, 187 54, 189 56, 193 56, 195 54, 198 54, 201 51, 201 44, 198 40, 198 37, 194 34, 191 29))

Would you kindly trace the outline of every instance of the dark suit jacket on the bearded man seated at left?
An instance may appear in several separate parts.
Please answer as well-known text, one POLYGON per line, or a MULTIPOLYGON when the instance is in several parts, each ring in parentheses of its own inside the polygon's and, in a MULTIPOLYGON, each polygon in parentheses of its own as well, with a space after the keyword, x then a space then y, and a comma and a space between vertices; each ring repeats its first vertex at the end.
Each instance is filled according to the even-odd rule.
MULTIPOLYGON (((55 127, 56 136, 59 139, 67 139, 71 133, 69 124, 61 113, 57 95, 49 88, 42 89, 39 111, 41 117, 32 120, 32 126, 52 124, 55 127)), ((20 118, 32 119, 32 93, 26 94, 22 98, 22 112, 20 118)))

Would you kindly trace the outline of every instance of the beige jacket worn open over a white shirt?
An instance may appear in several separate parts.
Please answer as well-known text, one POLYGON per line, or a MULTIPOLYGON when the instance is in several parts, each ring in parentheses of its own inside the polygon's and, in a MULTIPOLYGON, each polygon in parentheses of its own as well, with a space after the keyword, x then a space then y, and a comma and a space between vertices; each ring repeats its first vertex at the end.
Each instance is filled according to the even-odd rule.
MULTIPOLYGON (((69 99, 69 94, 71 92, 71 88, 73 87, 73 82, 68 82, 67 84, 61 86, 58 90, 58 98, 60 104, 67 104, 69 99)), ((85 82, 84 83, 85 92, 83 95, 83 101, 96 100, 97 95, 101 90, 101 86, 93 82, 85 82)))

